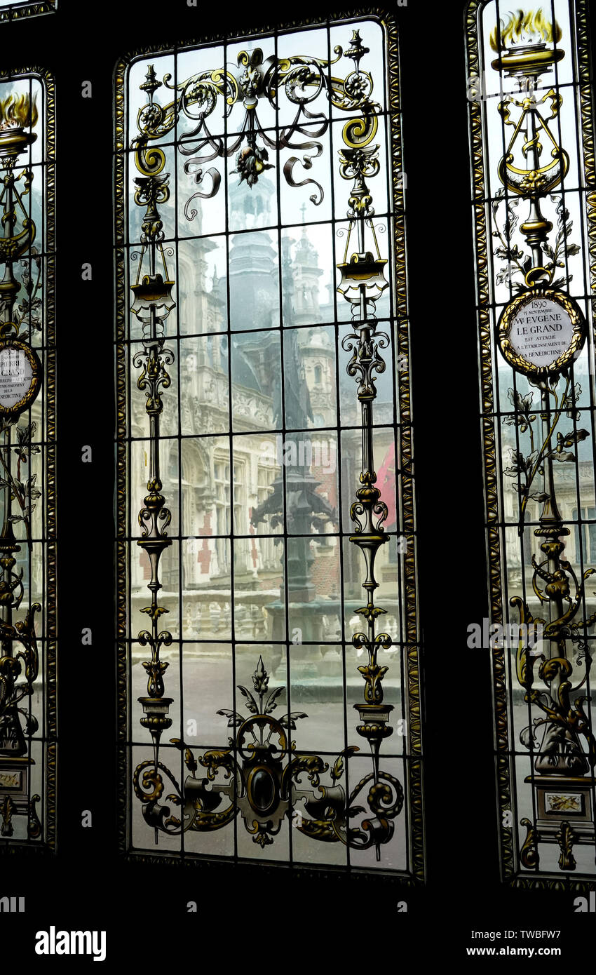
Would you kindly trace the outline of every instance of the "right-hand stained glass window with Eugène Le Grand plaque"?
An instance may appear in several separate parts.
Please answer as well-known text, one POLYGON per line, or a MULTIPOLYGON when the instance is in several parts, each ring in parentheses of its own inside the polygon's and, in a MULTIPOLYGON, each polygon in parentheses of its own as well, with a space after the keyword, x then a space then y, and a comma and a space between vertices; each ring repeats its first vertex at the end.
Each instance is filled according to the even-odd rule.
POLYGON ((593 878, 593 115, 586 5, 467 12, 503 878, 593 878))

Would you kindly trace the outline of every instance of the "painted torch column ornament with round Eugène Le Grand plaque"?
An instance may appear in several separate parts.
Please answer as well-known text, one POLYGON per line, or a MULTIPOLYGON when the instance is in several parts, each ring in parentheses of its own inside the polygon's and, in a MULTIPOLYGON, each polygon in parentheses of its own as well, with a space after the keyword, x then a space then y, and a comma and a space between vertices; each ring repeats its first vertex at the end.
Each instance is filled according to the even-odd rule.
POLYGON ((523 867, 538 869, 540 843, 556 843, 559 868, 573 871, 574 844, 593 842, 594 829, 590 790, 596 740, 586 710, 589 698, 581 689, 591 664, 586 633, 596 621, 596 612, 582 607, 587 580, 596 569, 587 568, 578 577, 565 557, 570 528, 555 489, 562 465, 577 471, 580 445, 590 436, 577 426, 581 391, 573 374, 587 334, 569 292, 569 258, 580 249, 571 241, 573 222, 565 197, 553 193, 569 169, 569 155, 555 135, 561 130, 549 125, 557 120, 563 98, 554 88, 543 95, 538 90, 542 76, 566 56, 561 37, 556 20, 549 22, 541 11, 511 14, 491 34, 497 54, 493 68, 518 85, 518 92, 502 96, 498 105, 504 152, 497 174, 503 188, 494 194, 491 210, 494 257, 505 265, 495 284, 508 286, 512 295, 501 313, 497 340, 509 366, 525 377, 520 387, 522 382, 530 387, 528 392, 517 386, 508 390, 511 411, 503 416, 515 434, 503 474, 518 497, 520 537, 532 502, 540 511, 533 530, 540 554, 531 558, 528 593, 509 599, 519 620, 516 676, 529 715, 519 740, 531 755, 526 782, 537 810, 534 822, 521 820, 526 839, 518 855, 523 867), (520 223, 522 205, 527 215, 520 223), (543 213, 547 207, 556 213, 556 226, 543 213), (534 645, 527 640, 529 626, 540 633, 534 645), (583 673, 575 680, 571 656, 577 651, 583 673), (570 810, 576 814, 573 828, 566 818, 570 810))

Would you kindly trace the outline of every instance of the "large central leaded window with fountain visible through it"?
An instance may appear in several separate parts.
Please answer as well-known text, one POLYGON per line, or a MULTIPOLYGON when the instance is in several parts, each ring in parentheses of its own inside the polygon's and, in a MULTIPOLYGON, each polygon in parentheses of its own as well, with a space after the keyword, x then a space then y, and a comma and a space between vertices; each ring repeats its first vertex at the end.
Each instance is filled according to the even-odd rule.
POLYGON ((139 52, 115 146, 123 849, 422 879, 396 26, 139 52))

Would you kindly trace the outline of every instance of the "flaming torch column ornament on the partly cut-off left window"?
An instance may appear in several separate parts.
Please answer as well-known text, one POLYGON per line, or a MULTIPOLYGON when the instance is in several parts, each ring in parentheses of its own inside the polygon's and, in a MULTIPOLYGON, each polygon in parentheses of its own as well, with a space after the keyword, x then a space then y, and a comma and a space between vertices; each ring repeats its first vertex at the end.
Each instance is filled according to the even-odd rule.
POLYGON ((11 93, 0 99, 0 213, 4 228, 0 240, 0 264, 4 265, 0 281, 0 433, 4 440, 0 446, 0 490, 4 494, 0 533, 0 835, 14 836, 14 820, 22 816, 29 839, 42 834, 36 811, 40 797, 31 796, 34 761, 29 754, 30 736, 39 724, 30 708, 22 705, 31 698, 39 675, 35 617, 42 606, 30 603, 24 619, 14 619, 25 596, 23 570, 16 570, 21 546, 14 527, 23 526, 26 544, 32 549, 32 515, 42 492, 37 475, 30 473, 30 461, 41 448, 33 443, 37 423, 30 414, 28 422, 19 421, 34 403, 42 383, 43 370, 30 339, 31 331, 42 331, 43 288, 42 261, 34 246, 37 228, 30 216, 30 203, 23 199, 30 194, 33 172, 29 166, 19 172, 19 157, 37 139, 33 132, 37 119, 35 98, 30 95, 11 93), (19 301, 21 290, 24 294, 19 301))

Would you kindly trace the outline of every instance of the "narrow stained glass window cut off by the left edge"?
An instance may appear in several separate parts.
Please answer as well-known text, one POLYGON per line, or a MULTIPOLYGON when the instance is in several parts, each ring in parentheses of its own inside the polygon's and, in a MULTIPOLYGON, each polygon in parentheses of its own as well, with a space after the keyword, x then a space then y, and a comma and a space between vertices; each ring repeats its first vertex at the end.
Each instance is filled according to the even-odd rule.
POLYGON ((56 839, 54 83, 0 76, 0 837, 56 839))

